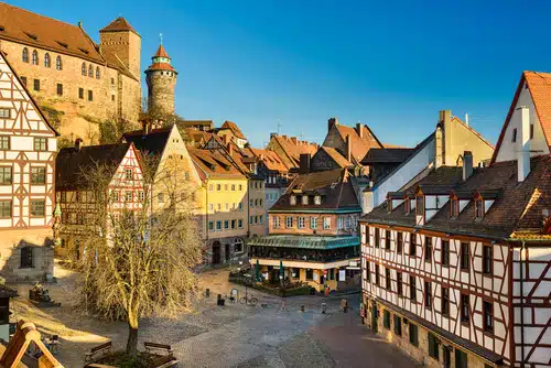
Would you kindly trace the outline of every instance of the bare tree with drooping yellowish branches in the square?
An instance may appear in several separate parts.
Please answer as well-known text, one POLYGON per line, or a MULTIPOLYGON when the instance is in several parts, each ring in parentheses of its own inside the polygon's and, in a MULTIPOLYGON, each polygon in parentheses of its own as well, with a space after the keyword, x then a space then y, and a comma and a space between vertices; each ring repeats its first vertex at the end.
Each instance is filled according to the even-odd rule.
POLYGON ((140 318, 174 317, 190 306, 202 249, 193 187, 185 183, 183 167, 148 154, 141 163, 145 184, 133 206, 114 196, 112 187, 128 184, 116 167, 83 167, 87 201, 75 210, 84 220, 72 231, 85 249, 79 260, 82 305, 88 313, 128 323, 130 356, 137 355, 140 318))

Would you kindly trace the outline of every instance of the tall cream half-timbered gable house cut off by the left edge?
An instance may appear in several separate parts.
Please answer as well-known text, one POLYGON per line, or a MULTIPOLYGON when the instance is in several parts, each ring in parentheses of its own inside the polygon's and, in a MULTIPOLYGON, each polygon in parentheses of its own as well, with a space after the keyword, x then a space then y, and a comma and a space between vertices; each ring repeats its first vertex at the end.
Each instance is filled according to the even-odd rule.
POLYGON ((0 273, 53 273, 56 131, 0 53, 0 273))

